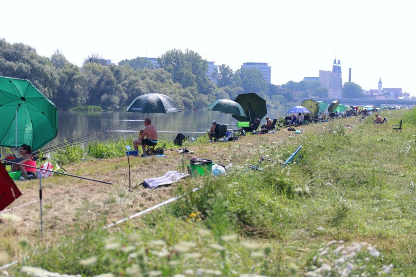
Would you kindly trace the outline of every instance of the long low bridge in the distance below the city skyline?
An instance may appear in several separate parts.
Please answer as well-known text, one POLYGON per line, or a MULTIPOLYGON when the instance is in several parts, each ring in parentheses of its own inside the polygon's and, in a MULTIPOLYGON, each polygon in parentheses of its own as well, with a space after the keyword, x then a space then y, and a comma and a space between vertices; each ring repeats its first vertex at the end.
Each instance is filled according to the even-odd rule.
MULTIPOLYGON (((338 100, 340 104, 347 104, 347 105, 354 105, 354 106, 365 106, 365 105, 373 105, 375 107, 379 107, 381 105, 389 105, 389 106, 412 106, 415 105, 416 106, 416 100, 414 99, 409 99, 409 100, 405 100, 405 99, 365 99, 365 98, 361 98, 361 99, 336 99, 336 98, 321 98, 321 99, 317 99, 317 98, 312 98, 315 101, 325 101, 327 103, 331 103, 334 100, 338 100)), ((305 98, 293 98, 294 101, 303 101, 306 100, 305 98)))

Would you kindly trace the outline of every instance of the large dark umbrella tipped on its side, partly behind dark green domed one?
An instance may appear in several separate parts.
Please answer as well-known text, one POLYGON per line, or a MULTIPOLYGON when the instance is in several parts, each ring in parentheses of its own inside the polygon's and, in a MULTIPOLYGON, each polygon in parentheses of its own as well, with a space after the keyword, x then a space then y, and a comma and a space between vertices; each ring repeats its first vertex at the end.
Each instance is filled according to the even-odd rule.
POLYGON ((263 119, 264 116, 267 115, 266 100, 255 93, 240 94, 234 101, 239 103, 246 112, 245 117, 232 115, 232 117, 238 121, 253 122, 255 118, 263 119))

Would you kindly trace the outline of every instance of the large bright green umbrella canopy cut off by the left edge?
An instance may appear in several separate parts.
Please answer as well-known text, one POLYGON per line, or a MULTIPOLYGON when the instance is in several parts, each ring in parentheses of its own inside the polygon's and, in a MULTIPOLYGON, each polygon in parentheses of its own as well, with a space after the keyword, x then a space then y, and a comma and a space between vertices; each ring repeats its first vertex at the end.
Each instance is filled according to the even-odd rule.
POLYGON ((0 146, 37 150, 58 135, 58 113, 29 80, 0 76, 0 146))

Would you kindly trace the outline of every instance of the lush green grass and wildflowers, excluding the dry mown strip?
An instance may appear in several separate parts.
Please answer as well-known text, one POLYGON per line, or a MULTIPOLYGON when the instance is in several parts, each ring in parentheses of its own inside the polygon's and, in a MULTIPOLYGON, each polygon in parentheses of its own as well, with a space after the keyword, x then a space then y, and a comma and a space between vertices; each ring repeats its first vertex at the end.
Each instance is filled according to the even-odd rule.
MULTIPOLYGON (((178 186, 183 198, 140 220, 79 226, 60 245, 29 251, 24 263, 82 276, 414 276, 416 109, 384 116, 383 125, 313 124, 279 143, 253 136, 245 152, 218 145, 218 156, 242 168, 188 179, 178 186), (400 119, 403 131, 392 132, 400 119), (298 145, 299 164, 283 166, 298 145), (247 170, 259 154, 268 158, 264 171, 247 170)), ((124 155, 112 150, 117 143, 125 141, 88 153, 124 155)), ((11 275, 25 276, 22 265, 11 275)))

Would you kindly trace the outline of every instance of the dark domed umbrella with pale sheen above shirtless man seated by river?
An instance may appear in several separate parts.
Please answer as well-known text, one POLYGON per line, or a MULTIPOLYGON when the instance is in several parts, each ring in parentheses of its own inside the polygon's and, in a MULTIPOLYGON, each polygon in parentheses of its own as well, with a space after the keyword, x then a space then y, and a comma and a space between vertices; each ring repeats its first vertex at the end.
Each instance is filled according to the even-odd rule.
POLYGON ((181 112, 181 109, 175 101, 164 94, 148 93, 134 99, 128 106, 127 112, 167 114, 181 112))

